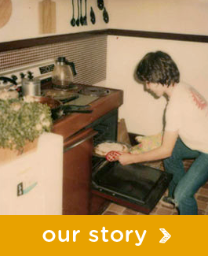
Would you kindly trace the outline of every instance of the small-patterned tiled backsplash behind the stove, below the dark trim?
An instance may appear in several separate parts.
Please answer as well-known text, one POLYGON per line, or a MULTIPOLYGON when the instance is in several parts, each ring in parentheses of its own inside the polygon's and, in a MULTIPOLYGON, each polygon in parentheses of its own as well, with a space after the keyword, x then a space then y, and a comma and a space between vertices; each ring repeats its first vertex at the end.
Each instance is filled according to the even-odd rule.
POLYGON ((20 50, 0 50, 0 72, 58 56, 75 63, 76 83, 94 84, 106 79, 107 35, 93 35, 64 43, 33 46, 20 50))

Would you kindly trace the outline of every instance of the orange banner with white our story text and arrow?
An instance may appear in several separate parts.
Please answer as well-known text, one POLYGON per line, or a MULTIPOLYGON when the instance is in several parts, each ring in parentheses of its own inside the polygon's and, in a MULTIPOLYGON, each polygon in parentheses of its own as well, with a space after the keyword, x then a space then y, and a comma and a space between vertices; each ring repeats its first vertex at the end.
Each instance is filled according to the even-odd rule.
POLYGON ((2 216, 2 255, 199 254, 206 216, 2 216))

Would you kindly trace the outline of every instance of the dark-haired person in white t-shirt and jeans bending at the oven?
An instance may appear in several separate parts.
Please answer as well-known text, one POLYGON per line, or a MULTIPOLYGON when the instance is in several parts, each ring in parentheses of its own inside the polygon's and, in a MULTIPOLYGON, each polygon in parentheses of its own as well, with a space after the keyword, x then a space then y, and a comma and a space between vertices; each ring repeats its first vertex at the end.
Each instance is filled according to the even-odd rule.
POLYGON ((137 78, 157 97, 166 95, 166 125, 162 145, 142 154, 121 154, 122 165, 164 159, 173 174, 166 202, 181 215, 198 214, 194 195, 208 180, 208 105, 194 87, 180 82, 177 65, 162 51, 148 53, 137 66, 137 78), (183 159, 195 158, 185 172, 183 159))

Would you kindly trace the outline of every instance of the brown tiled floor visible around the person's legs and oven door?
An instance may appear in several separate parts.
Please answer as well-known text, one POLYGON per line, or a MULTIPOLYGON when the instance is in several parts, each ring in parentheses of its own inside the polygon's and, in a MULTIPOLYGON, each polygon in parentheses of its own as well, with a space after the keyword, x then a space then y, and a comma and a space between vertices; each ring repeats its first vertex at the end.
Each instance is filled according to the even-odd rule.
MULTIPOLYGON (((192 160, 184 161, 184 168, 188 169, 192 165, 192 160)), ((162 161, 157 161, 151 164, 152 167, 163 169, 162 161)), ((166 191, 167 193, 167 191, 166 191)), ((165 193, 165 194, 166 194, 165 193)), ((208 215, 208 181, 199 189, 195 195, 198 204, 199 215, 208 215)), ((170 209, 167 206, 162 205, 162 200, 158 202, 155 208, 151 211, 150 215, 177 215, 176 209, 170 209)), ((144 215, 135 210, 128 209, 124 206, 119 206, 115 203, 111 203, 104 211, 103 215, 144 215)))

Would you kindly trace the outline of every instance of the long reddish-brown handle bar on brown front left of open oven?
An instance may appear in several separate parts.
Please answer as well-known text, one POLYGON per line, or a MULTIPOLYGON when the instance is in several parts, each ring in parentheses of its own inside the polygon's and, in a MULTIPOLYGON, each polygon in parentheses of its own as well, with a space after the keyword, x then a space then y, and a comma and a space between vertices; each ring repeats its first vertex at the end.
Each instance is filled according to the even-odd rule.
POLYGON ((94 131, 92 128, 86 129, 84 132, 81 132, 77 135, 74 135, 70 138, 71 142, 66 142, 66 146, 64 147, 64 153, 68 150, 71 150, 73 147, 77 147, 78 145, 86 142, 86 140, 93 138, 94 135, 97 135, 97 131, 94 131))

